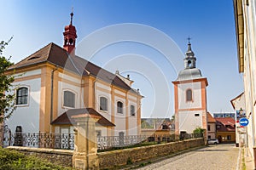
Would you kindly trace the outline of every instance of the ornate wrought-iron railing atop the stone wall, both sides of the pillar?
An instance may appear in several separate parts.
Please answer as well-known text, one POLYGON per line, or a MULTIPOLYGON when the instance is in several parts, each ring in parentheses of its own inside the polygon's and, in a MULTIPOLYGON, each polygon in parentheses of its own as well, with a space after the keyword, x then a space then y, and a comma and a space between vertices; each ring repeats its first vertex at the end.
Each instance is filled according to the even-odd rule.
MULTIPOLYGON (((97 137, 97 149, 109 150, 132 145, 161 144, 183 139, 201 138, 201 134, 185 133, 182 135, 119 135, 97 137)), ((74 133, 3 133, 3 147, 26 146, 34 148, 52 148, 74 150, 74 133)))

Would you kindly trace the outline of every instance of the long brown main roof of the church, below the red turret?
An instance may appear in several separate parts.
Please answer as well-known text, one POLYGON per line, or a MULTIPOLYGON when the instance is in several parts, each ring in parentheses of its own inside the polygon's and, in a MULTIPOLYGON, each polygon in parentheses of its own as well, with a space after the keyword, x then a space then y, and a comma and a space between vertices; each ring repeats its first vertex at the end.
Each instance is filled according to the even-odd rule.
POLYGON ((116 85, 119 88, 125 88, 130 90, 130 92, 139 94, 137 90, 132 89, 125 82, 123 82, 119 77, 113 73, 102 69, 97 65, 94 65, 86 59, 82 59, 79 56, 70 56, 67 54, 67 51, 55 43, 51 42, 46 45, 44 48, 39 49, 34 54, 22 59, 15 65, 9 67, 9 70, 18 70, 30 65, 38 65, 40 63, 50 63, 56 65, 67 71, 73 71, 76 74, 82 76, 93 76, 101 79, 104 82, 116 85))

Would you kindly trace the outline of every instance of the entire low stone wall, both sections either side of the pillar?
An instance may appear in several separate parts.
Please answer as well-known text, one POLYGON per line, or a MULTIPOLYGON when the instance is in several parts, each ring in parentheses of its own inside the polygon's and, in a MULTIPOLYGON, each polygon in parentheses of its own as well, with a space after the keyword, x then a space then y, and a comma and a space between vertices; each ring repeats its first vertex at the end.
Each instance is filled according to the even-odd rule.
MULTIPOLYGON (((101 169, 126 165, 127 161, 143 161, 156 156, 165 156, 180 150, 188 150, 204 145, 204 139, 187 139, 179 142, 167 144, 155 144, 124 150, 113 150, 97 153, 99 167, 101 169)), ((9 149, 18 150, 25 155, 32 155, 55 164, 73 167, 73 150, 55 150, 46 148, 28 148, 19 146, 9 146, 9 149)))

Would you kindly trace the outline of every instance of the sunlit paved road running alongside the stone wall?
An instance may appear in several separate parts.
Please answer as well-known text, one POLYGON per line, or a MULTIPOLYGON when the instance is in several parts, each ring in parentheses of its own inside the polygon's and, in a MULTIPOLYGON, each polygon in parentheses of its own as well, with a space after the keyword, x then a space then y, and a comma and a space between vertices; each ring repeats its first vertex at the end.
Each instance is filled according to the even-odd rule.
MULTIPOLYGON (((180 156, 159 161, 140 170, 236 170, 239 148, 235 144, 210 145, 180 156)), ((238 169, 238 168, 237 168, 238 169)))

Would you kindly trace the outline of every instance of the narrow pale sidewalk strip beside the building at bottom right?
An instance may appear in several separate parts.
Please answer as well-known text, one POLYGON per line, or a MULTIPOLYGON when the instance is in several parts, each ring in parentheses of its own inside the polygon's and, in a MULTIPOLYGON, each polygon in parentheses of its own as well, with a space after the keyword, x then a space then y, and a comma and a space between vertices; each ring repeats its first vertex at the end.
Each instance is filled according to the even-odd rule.
POLYGON ((247 148, 241 148, 241 159, 240 159, 240 169, 243 169, 243 163, 245 163, 246 170, 254 170, 253 156, 250 154, 250 151, 247 148), (244 151, 242 151, 244 150, 244 151), (243 159, 244 158, 244 159, 243 159))

